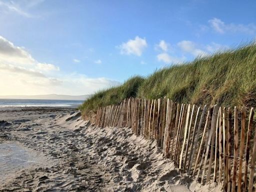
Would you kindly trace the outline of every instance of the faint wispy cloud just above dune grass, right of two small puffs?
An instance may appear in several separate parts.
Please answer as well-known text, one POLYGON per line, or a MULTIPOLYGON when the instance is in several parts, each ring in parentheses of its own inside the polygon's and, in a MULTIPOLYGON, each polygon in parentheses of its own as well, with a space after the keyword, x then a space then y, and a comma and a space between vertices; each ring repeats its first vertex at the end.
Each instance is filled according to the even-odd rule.
POLYGON ((204 50, 197 48, 196 44, 190 40, 182 40, 177 43, 179 48, 181 48, 182 51, 190 53, 194 56, 199 56, 199 55, 207 55, 208 53, 205 52, 204 50))

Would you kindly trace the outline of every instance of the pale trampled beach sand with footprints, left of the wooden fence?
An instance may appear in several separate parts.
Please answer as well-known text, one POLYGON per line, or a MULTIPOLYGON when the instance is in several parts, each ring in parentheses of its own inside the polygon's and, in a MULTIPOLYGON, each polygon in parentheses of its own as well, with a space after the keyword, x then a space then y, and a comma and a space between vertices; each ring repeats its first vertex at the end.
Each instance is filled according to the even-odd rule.
POLYGON ((95 127, 72 108, 0 108, 0 120, 0 143, 35 159, 1 171, 0 191, 220 190, 181 174, 155 141, 130 128, 95 127))

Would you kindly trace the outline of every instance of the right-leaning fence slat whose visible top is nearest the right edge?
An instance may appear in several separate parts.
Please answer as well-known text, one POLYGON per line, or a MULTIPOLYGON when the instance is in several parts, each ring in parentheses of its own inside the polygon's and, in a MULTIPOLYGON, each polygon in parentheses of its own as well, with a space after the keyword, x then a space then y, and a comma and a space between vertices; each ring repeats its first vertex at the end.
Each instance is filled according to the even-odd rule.
POLYGON ((254 115, 254 110, 253 110, 253 107, 251 107, 250 108, 250 114, 249 114, 248 128, 247 128, 246 145, 245 145, 246 155, 245 155, 245 166, 244 166, 243 191, 245 191, 246 187, 247 187, 247 171, 248 171, 248 161, 249 161, 249 152, 250 152, 250 138, 251 138, 253 115, 254 115))

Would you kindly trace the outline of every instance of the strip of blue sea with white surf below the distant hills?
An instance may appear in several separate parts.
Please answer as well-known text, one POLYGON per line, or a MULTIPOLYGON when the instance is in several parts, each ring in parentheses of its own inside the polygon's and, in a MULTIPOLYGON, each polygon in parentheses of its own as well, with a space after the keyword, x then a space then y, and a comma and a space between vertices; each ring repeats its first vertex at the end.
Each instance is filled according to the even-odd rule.
POLYGON ((77 107, 83 100, 48 100, 48 99, 0 99, 0 107, 55 106, 77 107))

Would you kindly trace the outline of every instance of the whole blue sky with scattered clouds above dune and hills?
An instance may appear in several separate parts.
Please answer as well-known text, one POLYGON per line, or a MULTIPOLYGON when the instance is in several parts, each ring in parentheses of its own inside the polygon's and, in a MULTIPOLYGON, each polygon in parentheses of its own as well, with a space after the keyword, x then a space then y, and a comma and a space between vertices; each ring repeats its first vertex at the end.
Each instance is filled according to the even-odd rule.
POLYGON ((91 94, 236 47, 255 39, 255 8, 254 0, 0 0, 0 95, 91 94))

